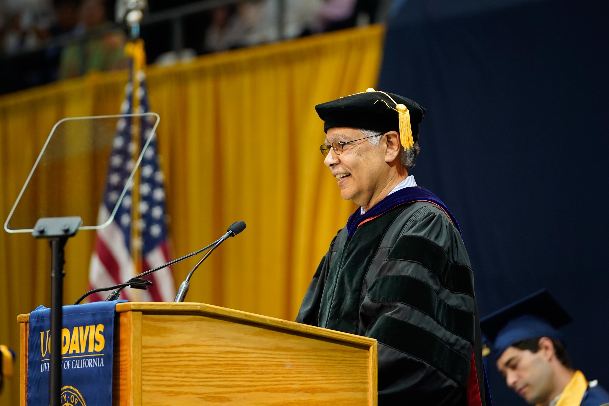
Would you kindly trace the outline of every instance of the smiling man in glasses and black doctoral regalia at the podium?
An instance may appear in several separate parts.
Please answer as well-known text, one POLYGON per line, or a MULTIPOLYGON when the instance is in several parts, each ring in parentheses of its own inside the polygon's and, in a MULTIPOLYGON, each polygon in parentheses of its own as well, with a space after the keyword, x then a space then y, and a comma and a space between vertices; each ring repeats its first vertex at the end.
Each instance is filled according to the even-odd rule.
POLYGON ((360 207, 332 240, 297 321, 378 340, 381 406, 490 404, 459 224, 408 173, 424 108, 369 88, 315 110, 325 164, 360 207))

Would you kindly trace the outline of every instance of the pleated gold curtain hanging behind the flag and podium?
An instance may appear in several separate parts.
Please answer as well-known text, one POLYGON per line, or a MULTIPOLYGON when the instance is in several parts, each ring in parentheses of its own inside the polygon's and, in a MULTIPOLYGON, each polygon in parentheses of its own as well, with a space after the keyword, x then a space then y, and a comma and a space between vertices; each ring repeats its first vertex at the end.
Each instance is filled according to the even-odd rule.
MULTIPOLYGON (((323 166, 314 105, 375 86, 383 32, 343 30, 148 69, 174 256, 203 247, 230 223, 247 223, 197 271, 188 301, 294 320, 320 258, 354 210, 323 166)), ((125 72, 90 74, 0 97, 2 222, 52 125, 117 114, 126 82, 125 72)), ((80 231, 66 245, 66 304, 87 289, 93 241, 93 232, 80 231)), ((49 305, 49 261, 46 241, 0 232, 0 343, 18 350, 16 315, 49 305)), ((185 262, 174 267, 176 284, 195 260, 185 262)), ((2 404, 18 404, 16 373, 2 404)))

